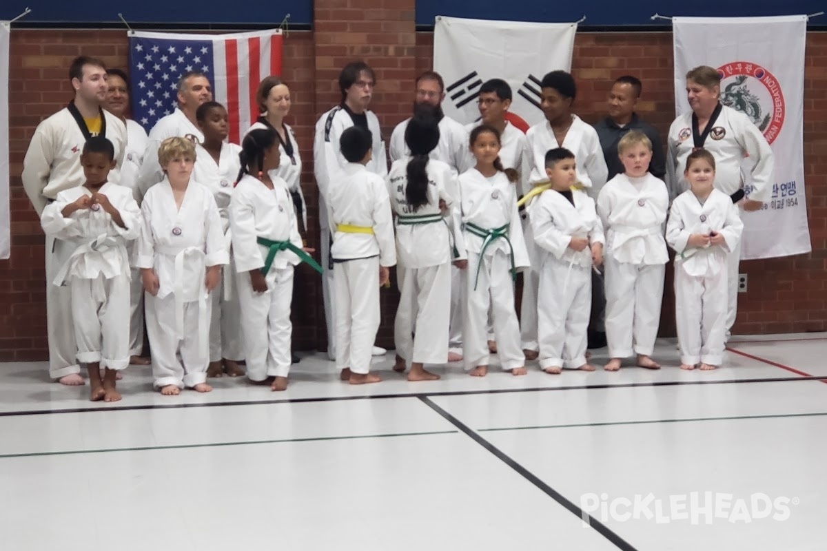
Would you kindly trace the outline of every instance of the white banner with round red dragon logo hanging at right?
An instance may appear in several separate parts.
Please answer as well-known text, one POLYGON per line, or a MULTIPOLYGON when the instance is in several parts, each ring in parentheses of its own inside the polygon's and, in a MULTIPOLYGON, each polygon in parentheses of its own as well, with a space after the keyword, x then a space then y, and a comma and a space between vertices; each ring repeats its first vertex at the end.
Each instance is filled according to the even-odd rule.
MULTIPOLYGON (((677 114, 690 110, 686 72, 709 65, 721 75, 721 102, 746 113, 775 153, 772 199, 762 211, 743 213, 741 258, 809 253, 803 147, 807 17, 673 17, 672 29, 677 114)), ((748 159, 744 167, 748 174, 748 159)))

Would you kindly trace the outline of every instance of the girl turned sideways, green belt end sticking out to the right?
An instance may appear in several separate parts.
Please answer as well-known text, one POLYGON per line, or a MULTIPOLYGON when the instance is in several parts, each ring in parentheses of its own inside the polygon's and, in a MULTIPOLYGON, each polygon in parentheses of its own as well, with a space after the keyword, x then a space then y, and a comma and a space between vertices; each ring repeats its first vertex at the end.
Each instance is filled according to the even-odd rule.
POLYGON ((247 378, 270 389, 287 388, 293 267, 318 264, 302 249, 287 183, 276 176, 279 141, 271 128, 250 131, 241 144, 241 170, 230 201, 241 330, 247 378))

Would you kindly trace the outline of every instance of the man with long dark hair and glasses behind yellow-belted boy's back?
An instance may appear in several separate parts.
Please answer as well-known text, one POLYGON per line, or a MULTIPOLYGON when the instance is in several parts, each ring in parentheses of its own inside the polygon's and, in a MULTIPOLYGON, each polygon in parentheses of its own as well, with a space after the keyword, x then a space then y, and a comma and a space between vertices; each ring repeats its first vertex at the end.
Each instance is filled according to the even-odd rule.
MULTIPOLYGON (((327 188, 336 185, 342 178, 342 167, 347 159, 339 149, 342 132, 351 126, 361 126, 370 131, 373 138, 373 155, 366 165, 367 169, 382 178, 388 175, 388 162, 385 154, 385 141, 379 119, 368 110, 373 97, 376 78, 373 69, 362 61, 349 63, 339 73, 339 90, 342 101, 330 111, 324 113, 316 123, 316 135, 313 140, 313 173, 318 185, 318 223, 322 245, 322 261, 326 264, 322 277, 322 294, 324 301, 324 318, 327 324, 327 357, 336 359, 336 311, 333 297, 333 263, 330 258, 332 236, 327 221, 327 188)), ((386 350, 378 346, 373 348, 373 355, 380 356, 386 350)))

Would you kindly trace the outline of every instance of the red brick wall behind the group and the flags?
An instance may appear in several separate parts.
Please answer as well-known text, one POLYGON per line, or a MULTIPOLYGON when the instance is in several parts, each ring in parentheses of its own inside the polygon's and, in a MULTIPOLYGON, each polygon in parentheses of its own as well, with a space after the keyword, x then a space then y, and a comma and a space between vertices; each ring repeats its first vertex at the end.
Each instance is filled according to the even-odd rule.
MULTIPOLYGON (((338 101, 338 69, 352 59, 366 59, 376 69, 378 85, 371 107, 380 116, 387 140, 393 126, 410 112, 415 75, 431 68, 433 35, 414 32, 413 0, 317 0, 314 17, 313 32, 291 31, 284 41, 284 78, 294 97, 289 122, 304 159, 310 238, 318 241, 313 125, 338 101)), ((122 31, 12 32, 12 258, 0 261, 0 361, 47 355, 42 231, 23 192, 20 172, 36 124, 71 98, 65 73, 69 60, 81 52, 101 56, 112 67, 126 67, 127 36, 122 31)), ((827 330, 827 35, 810 33, 806 55, 805 181, 813 252, 742 264, 749 276, 735 328, 742 333, 827 330)), ((630 73, 644 84, 639 111, 662 133, 667 131, 674 113, 671 34, 580 33, 573 73, 578 84, 576 112, 586 121, 596 121, 603 113, 611 79, 630 73)), ((390 346, 398 296, 395 289, 382 293, 379 342, 390 346)), ((295 348, 323 349, 318 276, 302 268, 295 296, 295 348)), ((673 334, 672 301, 667 292, 663 335, 673 334)))

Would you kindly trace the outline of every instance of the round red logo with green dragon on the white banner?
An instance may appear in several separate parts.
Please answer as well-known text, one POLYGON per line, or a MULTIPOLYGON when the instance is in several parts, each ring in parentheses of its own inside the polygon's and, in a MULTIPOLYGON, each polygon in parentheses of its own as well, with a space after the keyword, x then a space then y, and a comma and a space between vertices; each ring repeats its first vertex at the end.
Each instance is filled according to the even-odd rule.
POLYGON ((748 61, 721 65, 718 74, 721 103, 748 116, 772 144, 781 133, 786 116, 786 102, 778 79, 765 67, 748 61))

